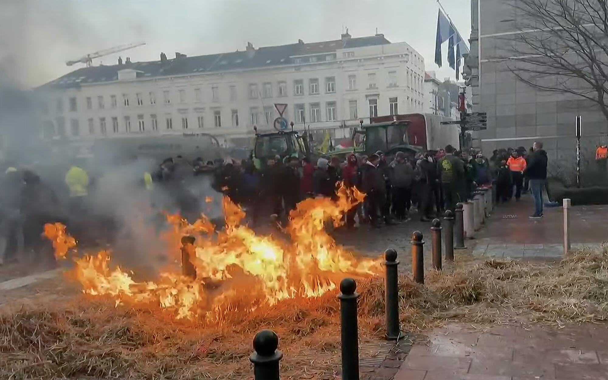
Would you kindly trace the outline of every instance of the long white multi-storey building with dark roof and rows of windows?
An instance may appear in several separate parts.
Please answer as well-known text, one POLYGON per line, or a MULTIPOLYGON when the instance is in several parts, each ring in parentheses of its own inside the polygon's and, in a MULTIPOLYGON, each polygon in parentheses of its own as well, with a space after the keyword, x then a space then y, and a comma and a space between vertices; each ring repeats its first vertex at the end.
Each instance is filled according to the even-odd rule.
POLYGON ((384 35, 81 68, 36 89, 46 138, 212 133, 244 145, 278 112, 302 130, 424 112, 424 59, 384 35))

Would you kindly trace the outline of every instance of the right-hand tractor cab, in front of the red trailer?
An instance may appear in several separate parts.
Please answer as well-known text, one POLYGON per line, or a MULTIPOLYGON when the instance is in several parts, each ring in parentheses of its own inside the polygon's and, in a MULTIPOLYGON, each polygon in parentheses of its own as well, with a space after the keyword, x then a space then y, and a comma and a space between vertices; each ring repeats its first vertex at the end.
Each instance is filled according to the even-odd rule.
MULTIPOLYGON (((362 136, 364 152, 367 155, 382 150, 385 155, 404 152, 415 155, 420 147, 409 144, 407 125, 409 121, 379 122, 368 125, 361 124, 361 130, 355 130, 353 138, 362 136), (359 135, 359 136, 358 136, 359 135)), ((361 139, 361 137, 359 137, 361 139)))

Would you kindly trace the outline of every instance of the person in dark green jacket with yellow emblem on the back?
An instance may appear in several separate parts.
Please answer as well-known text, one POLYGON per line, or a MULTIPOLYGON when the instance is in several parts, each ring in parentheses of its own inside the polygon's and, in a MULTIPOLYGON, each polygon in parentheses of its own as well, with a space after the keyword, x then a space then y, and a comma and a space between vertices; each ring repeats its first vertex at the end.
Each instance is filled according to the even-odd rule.
POLYGON ((453 146, 446 146, 446 155, 439 162, 441 173, 441 188, 445 208, 454 211, 457 202, 466 202, 462 199, 462 189, 465 186, 465 164, 454 155, 453 146))

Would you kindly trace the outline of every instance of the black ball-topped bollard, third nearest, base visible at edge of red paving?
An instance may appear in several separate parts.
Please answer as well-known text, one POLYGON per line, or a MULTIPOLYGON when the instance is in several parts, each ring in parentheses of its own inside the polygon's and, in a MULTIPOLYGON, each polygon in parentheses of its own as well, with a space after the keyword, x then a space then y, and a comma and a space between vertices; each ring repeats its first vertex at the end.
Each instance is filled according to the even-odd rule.
POLYGON ((399 340, 402 337, 399 329, 399 284, 397 277, 397 251, 389 248, 384 252, 386 277, 384 278, 384 304, 386 311, 386 337, 399 340))

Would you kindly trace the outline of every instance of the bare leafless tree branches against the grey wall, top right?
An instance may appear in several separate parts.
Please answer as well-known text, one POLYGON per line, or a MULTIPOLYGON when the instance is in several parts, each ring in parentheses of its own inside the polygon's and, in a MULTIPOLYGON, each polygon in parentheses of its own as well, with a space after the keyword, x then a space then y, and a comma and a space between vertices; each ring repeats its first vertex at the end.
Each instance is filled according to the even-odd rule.
POLYGON ((606 0, 516 0, 508 69, 539 90, 590 100, 608 120, 606 0))

